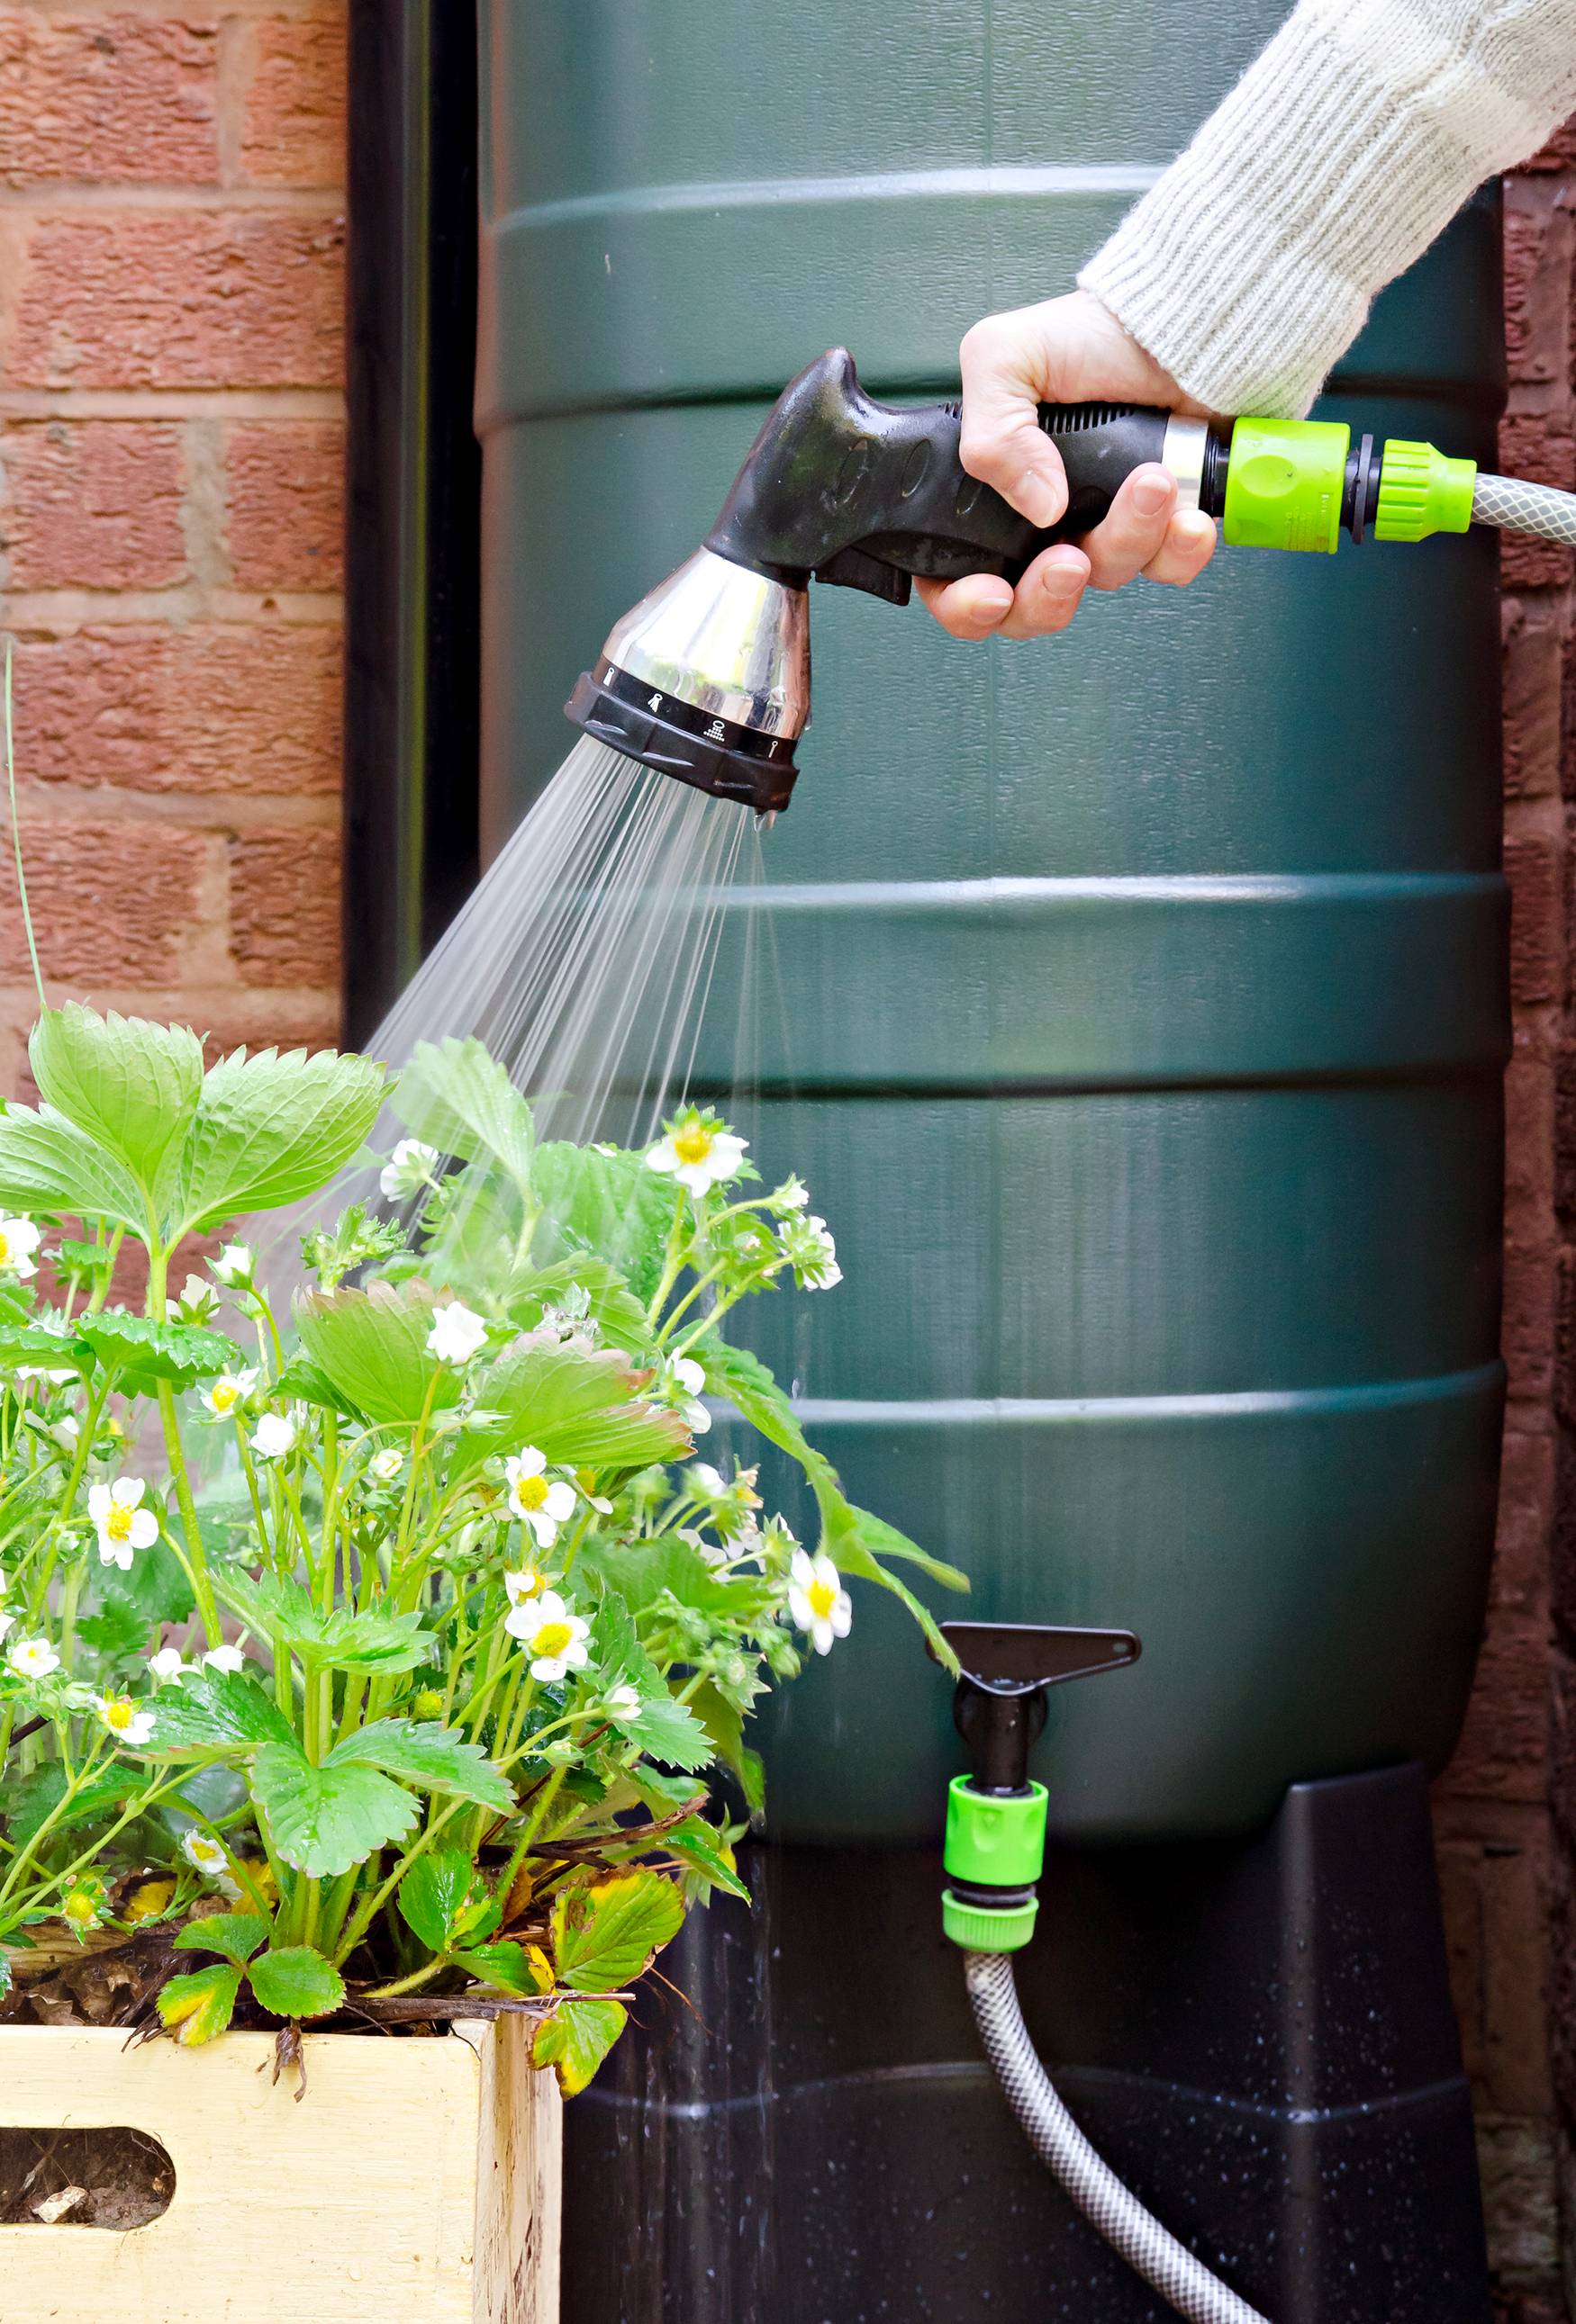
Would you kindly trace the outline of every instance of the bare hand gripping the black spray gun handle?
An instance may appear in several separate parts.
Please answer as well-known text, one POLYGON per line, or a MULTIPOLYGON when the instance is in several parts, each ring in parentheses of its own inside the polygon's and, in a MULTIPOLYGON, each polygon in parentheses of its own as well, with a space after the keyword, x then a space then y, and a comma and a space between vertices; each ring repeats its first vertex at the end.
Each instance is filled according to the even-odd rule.
MULTIPOLYGON (((1204 411, 1088 290, 986 316, 965 337, 960 363, 962 465, 1041 532, 1067 507, 1067 474, 1039 428, 1039 404, 1204 411)), ((1067 627, 1086 588, 1120 588, 1134 574, 1185 588, 1204 572, 1213 546, 1213 518, 1179 509, 1174 479, 1151 460, 1127 476, 1083 544, 1044 548, 1016 590, 1000 574, 918 581, 916 588, 953 637, 1051 637, 1067 627)))

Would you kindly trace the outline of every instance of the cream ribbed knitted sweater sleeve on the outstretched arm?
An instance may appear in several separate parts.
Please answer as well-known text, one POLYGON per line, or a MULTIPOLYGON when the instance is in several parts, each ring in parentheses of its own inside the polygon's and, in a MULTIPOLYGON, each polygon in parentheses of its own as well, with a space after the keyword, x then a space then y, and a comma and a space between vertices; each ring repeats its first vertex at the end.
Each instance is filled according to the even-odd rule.
POLYGON ((1576 107, 1576 0, 1302 0, 1079 284, 1216 411, 1302 416, 1374 293, 1576 107))

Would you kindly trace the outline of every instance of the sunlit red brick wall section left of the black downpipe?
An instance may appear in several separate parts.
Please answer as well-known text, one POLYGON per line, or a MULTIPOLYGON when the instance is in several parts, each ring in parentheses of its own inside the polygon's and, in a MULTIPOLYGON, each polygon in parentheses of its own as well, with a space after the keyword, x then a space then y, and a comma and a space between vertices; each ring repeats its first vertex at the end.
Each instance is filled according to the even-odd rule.
MULTIPOLYGON (((0 5, 0 623, 44 969, 339 1025, 344 0, 0 5)), ((33 988, 0 871, 0 1085, 33 988)))

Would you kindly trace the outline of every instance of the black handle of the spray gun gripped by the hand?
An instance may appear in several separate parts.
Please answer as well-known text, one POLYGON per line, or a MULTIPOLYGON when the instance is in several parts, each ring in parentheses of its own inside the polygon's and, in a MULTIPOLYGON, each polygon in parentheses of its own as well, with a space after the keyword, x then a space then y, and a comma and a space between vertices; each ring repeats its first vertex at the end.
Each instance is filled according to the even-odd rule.
POLYGON ((1044 404, 1069 500, 1041 532, 965 469, 958 404, 879 404, 834 346, 774 404, 707 548, 790 586, 814 574, 897 604, 911 574, 1016 581, 1048 541, 1097 525, 1134 467, 1160 460, 1172 418, 1141 404, 1044 404))

